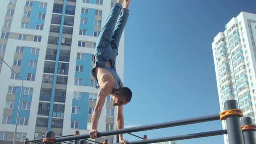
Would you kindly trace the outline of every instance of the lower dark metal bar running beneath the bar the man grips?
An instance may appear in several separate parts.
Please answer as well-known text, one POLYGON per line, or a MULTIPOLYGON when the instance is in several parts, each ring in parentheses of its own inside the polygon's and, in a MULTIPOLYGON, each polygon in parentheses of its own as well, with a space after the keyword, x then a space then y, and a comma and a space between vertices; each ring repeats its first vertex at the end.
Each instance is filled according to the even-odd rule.
MULTIPOLYGON (((127 144, 150 144, 156 142, 164 142, 164 141, 177 141, 177 140, 185 140, 191 138, 198 138, 198 137, 210 137, 215 135, 222 135, 227 134, 227 130, 219 130, 219 131, 208 131, 202 133, 195 133, 195 134, 185 134, 173 137, 163 137, 163 138, 155 138, 149 140, 141 140, 141 141, 131 141, 127 142, 127 144)), ((116 143, 116 144, 123 144, 123 143, 116 143)))

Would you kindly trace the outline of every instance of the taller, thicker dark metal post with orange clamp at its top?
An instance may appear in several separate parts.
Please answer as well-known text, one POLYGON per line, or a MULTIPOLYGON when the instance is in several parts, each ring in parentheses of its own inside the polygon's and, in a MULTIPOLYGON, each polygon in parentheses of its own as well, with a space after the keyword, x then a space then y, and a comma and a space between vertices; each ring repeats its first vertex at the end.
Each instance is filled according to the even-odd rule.
MULTIPOLYGON (((236 100, 227 100, 224 103, 224 110, 237 109, 236 100)), ((226 128, 228 134, 228 141, 230 144, 243 144, 243 136, 240 124, 240 118, 236 115, 226 117, 226 128)))

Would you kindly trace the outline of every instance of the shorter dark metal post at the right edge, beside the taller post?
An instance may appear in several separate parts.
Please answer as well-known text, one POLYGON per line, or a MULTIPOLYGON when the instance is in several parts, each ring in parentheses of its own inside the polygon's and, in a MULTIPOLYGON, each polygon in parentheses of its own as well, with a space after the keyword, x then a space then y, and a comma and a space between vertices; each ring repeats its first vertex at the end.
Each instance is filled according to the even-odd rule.
MULTIPOLYGON (((250 117, 243 117, 241 119, 241 125, 242 127, 246 127, 246 125, 251 125, 252 128, 255 127, 255 125, 253 125, 253 119, 250 117)), ((256 144, 255 135, 252 129, 248 128, 247 130, 243 130, 242 128, 242 131, 244 144, 256 144)))

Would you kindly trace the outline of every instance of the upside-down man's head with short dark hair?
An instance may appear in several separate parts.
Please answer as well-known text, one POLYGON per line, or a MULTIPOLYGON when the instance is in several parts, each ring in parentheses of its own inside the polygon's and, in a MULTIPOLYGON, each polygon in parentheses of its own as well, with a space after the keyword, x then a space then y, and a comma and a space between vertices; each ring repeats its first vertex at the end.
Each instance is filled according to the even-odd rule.
POLYGON ((127 87, 119 88, 116 90, 113 97, 113 105, 126 105, 131 101, 131 90, 127 87))

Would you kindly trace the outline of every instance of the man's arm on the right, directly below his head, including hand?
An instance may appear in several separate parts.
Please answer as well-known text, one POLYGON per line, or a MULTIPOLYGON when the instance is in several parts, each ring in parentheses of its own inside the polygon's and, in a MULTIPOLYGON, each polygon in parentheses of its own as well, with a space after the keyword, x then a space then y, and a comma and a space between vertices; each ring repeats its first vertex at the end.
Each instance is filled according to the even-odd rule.
MULTIPOLYGON (((118 129, 124 128, 124 116, 123 116, 123 107, 124 105, 117 106, 117 118, 116 124, 118 129)), ((126 141, 123 138, 123 134, 119 134, 119 143, 126 144, 126 141)))

